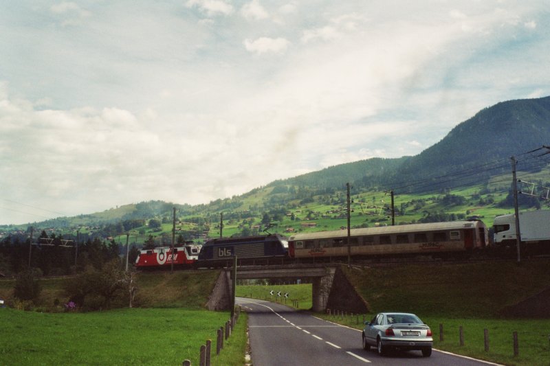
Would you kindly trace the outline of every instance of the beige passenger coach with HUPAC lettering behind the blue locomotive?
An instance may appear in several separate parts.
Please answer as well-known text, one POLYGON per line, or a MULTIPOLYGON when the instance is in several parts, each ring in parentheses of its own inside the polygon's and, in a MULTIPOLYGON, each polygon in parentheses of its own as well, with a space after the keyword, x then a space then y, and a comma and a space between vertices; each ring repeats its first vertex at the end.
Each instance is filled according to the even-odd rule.
MULTIPOLYGON (((479 220, 368 227, 350 230, 351 255, 443 256, 486 247, 487 227, 479 220)), ((289 238, 292 258, 337 258, 348 255, 347 230, 298 233, 289 238)))

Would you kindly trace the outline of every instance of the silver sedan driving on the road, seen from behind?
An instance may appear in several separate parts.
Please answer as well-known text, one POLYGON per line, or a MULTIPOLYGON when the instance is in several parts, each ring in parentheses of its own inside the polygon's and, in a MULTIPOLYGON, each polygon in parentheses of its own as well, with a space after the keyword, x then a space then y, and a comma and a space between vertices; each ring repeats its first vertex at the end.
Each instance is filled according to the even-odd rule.
POLYGON ((364 350, 376 347, 381 356, 390 348, 421 350, 424 357, 432 354, 432 330, 415 314, 380 312, 365 321, 362 338, 364 350))

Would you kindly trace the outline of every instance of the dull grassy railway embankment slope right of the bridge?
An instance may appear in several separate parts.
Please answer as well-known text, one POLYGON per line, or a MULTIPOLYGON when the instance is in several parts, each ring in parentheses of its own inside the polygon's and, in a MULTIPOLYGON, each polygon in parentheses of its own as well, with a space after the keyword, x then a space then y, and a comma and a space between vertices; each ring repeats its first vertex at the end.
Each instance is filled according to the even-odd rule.
POLYGON ((550 287, 550 260, 410 264, 347 268, 347 278, 373 312, 494 319, 498 310, 550 287))

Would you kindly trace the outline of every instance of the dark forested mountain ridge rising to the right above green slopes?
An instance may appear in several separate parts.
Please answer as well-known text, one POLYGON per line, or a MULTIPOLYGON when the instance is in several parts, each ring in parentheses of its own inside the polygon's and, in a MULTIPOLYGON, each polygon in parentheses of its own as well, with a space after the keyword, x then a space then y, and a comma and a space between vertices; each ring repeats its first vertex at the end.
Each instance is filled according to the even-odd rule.
MULTIPOLYGON (((441 177, 501 161, 500 165, 492 165, 491 170, 478 172, 478 179, 489 179, 511 170, 510 157, 549 144, 550 97, 510 100, 479 111, 414 157, 356 161, 270 185, 308 185, 322 190, 341 189, 351 182, 355 187, 381 185, 391 188, 403 184, 401 182, 441 177), (502 164, 503 159, 508 163, 502 164)), ((419 191, 421 189, 417 189, 419 191)))

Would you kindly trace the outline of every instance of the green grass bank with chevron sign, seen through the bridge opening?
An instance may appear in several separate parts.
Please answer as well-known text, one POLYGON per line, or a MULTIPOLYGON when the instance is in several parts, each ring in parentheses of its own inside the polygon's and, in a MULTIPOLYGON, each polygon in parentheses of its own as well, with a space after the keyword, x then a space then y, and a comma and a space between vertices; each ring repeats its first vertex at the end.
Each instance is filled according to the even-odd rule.
POLYGON ((298 310, 309 310, 311 309, 311 287, 311 284, 240 285, 236 286, 235 295, 249 299, 273 301, 298 310), (271 295, 270 291, 273 291, 274 295, 271 295), (277 296, 279 291, 281 291, 281 297, 277 296), (288 293, 288 298, 285 298, 285 293, 288 293))

